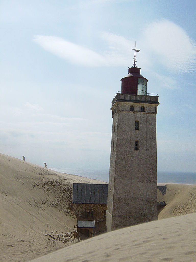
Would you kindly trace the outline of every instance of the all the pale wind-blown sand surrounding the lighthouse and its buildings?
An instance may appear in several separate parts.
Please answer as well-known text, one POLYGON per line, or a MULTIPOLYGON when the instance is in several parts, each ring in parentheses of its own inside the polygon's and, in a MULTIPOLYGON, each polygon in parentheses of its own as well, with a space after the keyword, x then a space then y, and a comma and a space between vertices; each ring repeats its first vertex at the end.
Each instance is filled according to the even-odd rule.
POLYGON ((166 184, 158 221, 63 244, 45 231, 56 235, 76 225, 73 183, 104 182, 2 154, 0 181, 0 261, 195 261, 196 214, 189 213, 196 212, 196 185, 166 184))

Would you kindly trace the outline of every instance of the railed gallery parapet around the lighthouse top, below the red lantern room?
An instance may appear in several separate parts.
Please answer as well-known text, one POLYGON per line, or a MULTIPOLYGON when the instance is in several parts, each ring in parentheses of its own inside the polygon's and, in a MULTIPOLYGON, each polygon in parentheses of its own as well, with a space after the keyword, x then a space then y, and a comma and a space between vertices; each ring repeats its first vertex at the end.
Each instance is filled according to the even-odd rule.
POLYGON ((159 104, 159 97, 158 94, 149 94, 146 95, 131 95, 131 94, 121 94, 121 92, 117 92, 112 100, 112 106, 116 101, 122 101, 122 102, 144 102, 144 103, 152 103, 152 104, 159 104))

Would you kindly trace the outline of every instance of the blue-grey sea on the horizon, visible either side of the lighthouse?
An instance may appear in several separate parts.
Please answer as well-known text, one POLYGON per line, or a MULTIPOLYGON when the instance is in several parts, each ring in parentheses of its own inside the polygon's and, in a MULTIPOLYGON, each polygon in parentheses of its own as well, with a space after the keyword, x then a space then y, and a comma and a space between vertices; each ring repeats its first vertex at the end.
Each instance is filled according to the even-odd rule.
MULTIPOLYGON (((108 182, 109 170, 84 170, 84 169, 67 169, 67 168, 55 168, 49 167, 51 170, 58 171, 60 173, 75 174, 82 177, 89 177, 101 181, 108 182)), ((158 183, 179 183, 179 184, 196 184, 196 172, 168 172, 157 171, 158 183)))

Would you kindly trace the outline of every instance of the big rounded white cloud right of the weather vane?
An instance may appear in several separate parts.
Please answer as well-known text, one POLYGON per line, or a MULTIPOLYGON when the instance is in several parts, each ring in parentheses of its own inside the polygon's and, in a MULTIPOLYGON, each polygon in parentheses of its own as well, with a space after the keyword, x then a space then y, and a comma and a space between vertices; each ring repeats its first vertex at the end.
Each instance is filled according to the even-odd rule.
POLYGON ((193 72, 196 67, 196 44, 180 26, 168 20, 151 23, 143 34, 145 49, 165 67, 193 72))

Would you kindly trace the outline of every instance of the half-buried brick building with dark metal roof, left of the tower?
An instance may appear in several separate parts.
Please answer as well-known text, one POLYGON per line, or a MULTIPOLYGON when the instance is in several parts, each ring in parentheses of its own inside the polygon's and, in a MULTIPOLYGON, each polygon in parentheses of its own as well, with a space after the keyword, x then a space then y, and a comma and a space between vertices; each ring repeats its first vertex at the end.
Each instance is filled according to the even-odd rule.
POLYGON ((73 208, 77 219, 106 220, 108 184, 73 183, 73 208))

